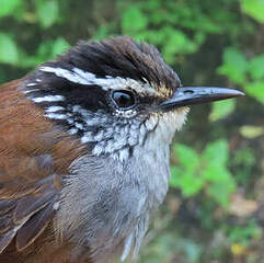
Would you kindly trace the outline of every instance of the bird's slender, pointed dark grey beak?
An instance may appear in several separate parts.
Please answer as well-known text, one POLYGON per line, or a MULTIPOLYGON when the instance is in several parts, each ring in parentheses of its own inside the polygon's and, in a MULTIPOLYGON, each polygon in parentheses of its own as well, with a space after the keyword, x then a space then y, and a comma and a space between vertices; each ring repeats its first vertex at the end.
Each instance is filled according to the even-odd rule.
POLYGON ((162 102, 159 107, 161 110, 169 111, 175 107, 220 101, 241 95, 244 95, 244 93, 233 89, 215 87, 184 87, 177 88, 172 98, 162 102))

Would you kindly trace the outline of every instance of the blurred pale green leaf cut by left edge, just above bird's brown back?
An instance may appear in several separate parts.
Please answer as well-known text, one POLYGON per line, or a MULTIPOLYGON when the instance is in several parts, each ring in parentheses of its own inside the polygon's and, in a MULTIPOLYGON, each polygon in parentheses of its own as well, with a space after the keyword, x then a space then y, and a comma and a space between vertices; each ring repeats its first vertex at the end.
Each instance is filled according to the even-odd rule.
POLYGON ((0 62, 15 65, 19 61, 19 48, 13 38, 0 33, 0 62))

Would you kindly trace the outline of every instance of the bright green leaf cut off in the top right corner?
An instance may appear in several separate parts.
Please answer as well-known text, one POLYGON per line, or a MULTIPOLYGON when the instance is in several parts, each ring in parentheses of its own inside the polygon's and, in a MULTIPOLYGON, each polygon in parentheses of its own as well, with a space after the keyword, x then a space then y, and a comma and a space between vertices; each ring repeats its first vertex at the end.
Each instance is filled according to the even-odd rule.
POLYGON ((264 23, 263 0, 241 0, 242 10, 259 22, 264 23))

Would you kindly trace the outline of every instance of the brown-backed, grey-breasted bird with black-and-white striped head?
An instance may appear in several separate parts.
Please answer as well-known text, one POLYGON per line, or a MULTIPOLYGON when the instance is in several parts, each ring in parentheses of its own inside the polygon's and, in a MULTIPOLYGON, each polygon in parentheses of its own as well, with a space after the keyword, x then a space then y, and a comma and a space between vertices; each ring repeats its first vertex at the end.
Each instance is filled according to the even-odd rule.
POLYGON ((241 96, 183 87, 129 36, 81 41, 0 87, 0 262, 136 259, 190 105, 241 96))

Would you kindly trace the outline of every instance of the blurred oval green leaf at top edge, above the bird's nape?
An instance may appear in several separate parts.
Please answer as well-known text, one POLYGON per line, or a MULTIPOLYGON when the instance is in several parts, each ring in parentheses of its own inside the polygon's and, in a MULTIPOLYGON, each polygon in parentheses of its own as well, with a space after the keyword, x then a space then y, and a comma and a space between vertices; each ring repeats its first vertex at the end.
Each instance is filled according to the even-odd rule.
POLYGON ((58 3, 55 0, 38 0, 36 1, 36 8, 37 18, 44 28, 48 28, 56 22, 59 10, 58 3))

